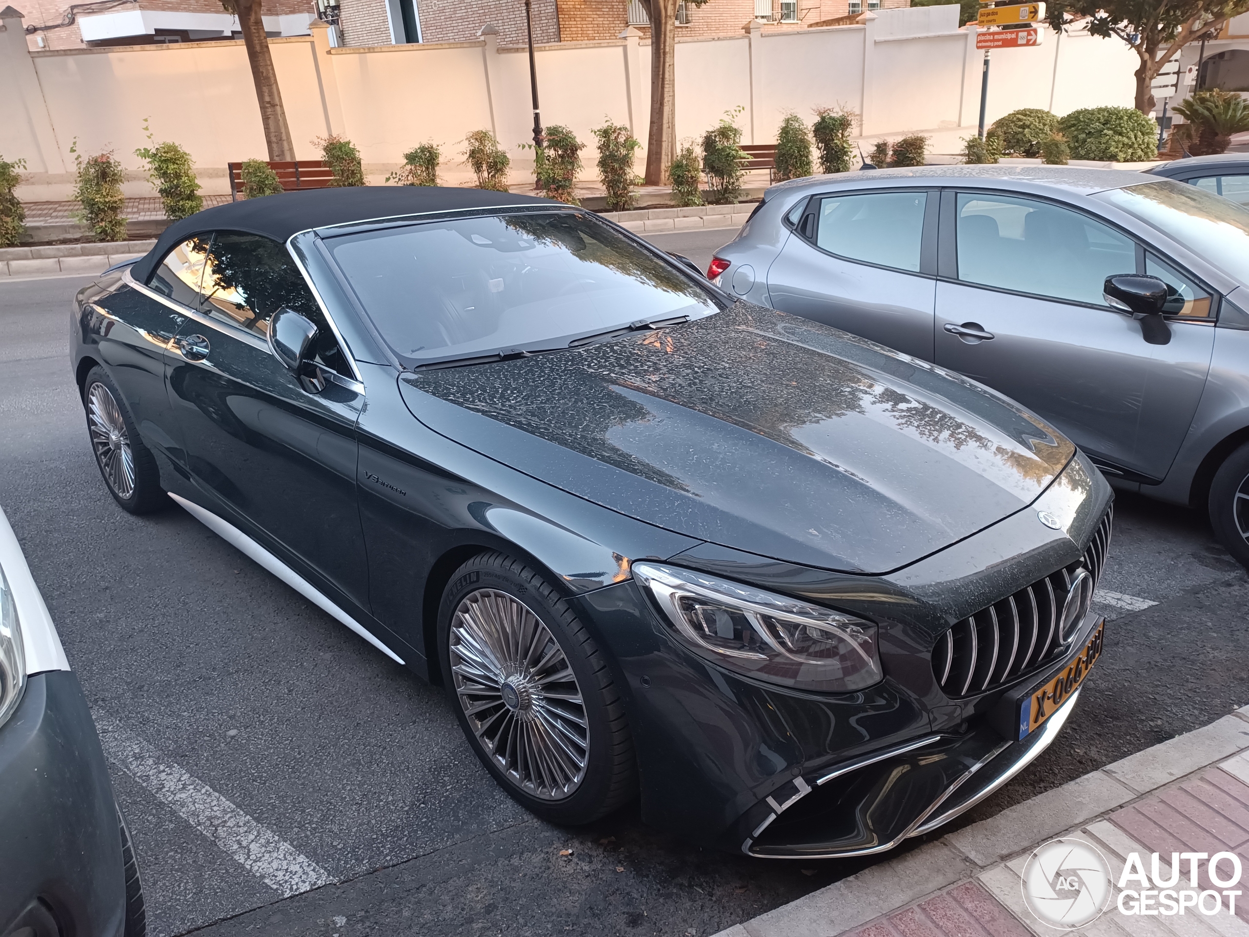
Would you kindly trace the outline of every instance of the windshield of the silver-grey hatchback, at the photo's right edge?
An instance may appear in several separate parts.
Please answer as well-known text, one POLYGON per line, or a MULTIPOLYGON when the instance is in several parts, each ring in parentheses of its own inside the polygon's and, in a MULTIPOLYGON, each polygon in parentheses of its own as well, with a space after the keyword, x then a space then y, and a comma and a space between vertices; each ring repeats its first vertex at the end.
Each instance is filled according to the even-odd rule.
POLYGON ((1173 180, 1112 189, 1102 197, 1249 282, 1249 210, 1230 199, 1173 180))

